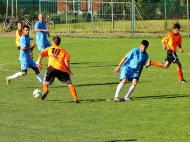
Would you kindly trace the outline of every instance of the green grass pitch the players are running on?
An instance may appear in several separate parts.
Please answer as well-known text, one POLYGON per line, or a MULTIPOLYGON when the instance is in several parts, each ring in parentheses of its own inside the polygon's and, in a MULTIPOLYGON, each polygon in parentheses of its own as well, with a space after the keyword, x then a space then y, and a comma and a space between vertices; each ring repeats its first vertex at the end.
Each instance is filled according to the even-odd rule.
MULTIPOLYGON (((73 104, 66 85, 55 80, 45 101, 33 98, 41 88, 33 71, 13 80, 5 77, 20 69, 14 38, 0 39, 0 141, 2 142, 179 142, 190 140, 190 40, 178 53, 187 84, 177 81, 176 67, 144 69, 129 103, 105 101, 114 96, 120 59, 142 38, 65 38, 71 55, 73 83, 81 100, 73 104)), ((160 38, 148 38, 150 58, 163 61, 160 38)), ((37 58, 35 50, 35 59, 37 58)), ((45 68, 42 69, 45 73, 45 68)), ((129 84, 122 90, 124 96, 129 84)))

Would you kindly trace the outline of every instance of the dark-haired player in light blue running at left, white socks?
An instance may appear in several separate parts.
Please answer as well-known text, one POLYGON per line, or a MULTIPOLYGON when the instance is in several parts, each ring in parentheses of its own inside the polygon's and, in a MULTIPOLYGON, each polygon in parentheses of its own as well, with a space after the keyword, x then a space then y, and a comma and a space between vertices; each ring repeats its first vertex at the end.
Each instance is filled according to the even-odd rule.
POLYGON ((42 75, 39 72, 38 67, 32 60, 30 56, 30 50, 33 49, 35 46, 30 46, 30 37, 29 37, 29 27, 27 25, 24 25, 22 28, 23 34, 20 38, 20 55, 19 55, 19 61, 21 64, 21 71, 17 72, 14 75, 8 76, 6 78, 7 85, 10 84, 10 81, 12 79, 16 79, 20 76, 25 76, 27 74, 27 69, 32 68, 36 74, 37 79, 40 81, 40 83, 43 83, 42 75))

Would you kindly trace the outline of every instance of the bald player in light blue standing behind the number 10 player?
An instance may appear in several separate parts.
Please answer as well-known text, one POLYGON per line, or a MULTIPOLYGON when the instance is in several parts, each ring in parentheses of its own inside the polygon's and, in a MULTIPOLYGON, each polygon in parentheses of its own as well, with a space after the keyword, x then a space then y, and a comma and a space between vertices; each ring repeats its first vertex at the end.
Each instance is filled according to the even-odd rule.
POLYGON ((43 15, 38 15, 38 21, 35 23, 36 31, 36 45, 39 51, 43 51, 45 48, 51 46, 47 35, 49 35, 48 30, 46 29, 46 24, 43 22, 43 15))

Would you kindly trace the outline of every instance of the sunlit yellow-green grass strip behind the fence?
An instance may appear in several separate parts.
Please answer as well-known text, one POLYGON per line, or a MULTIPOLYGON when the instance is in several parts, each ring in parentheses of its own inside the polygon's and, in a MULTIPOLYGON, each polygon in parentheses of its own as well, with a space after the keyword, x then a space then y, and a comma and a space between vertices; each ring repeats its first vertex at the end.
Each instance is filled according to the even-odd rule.
MULTIPOLYGON (((167 30, 170 30, 175 22, 179 22, 183 32, 189 33, 189 23, 187 20, 175 19, 167 20, 167 30)), ((112 21, 97 20, 95 22, 79 22, 68 24, 55 24, 52 32, 63 33, 113 33, 113 32, 131 32, 131 21, 114 21, 114 29, 112 29, 112 21)), ((136 20, 136 33, 163 33, 166 31, 165 20, 136 20)))

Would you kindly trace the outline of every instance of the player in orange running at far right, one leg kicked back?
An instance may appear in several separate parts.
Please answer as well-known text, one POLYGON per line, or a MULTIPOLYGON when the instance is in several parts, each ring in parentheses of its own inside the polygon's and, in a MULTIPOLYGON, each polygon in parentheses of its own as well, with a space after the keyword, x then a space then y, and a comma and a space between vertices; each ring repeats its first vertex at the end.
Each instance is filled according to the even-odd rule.
POLYGON ((185 83, 186 81, 183 78, 182 65, 179 61, 177 54, 176 54, 177 47, 179 48, 180 52, 183 52, 182 36, 180 33, 180 28, 181 28, 180 24, 175 23, 173 25, 172 31, 167 33, 164 36, 164 38, 162 39, 163 49, 167 49, 167 57, 165 59, 165 63, 149 60, 147 62, 146 67, 156 66, 156 67, 162 67, 164 69, 167 69, 171 63, 176 64, 177 65, 178 80, 181 83, 185 83))

